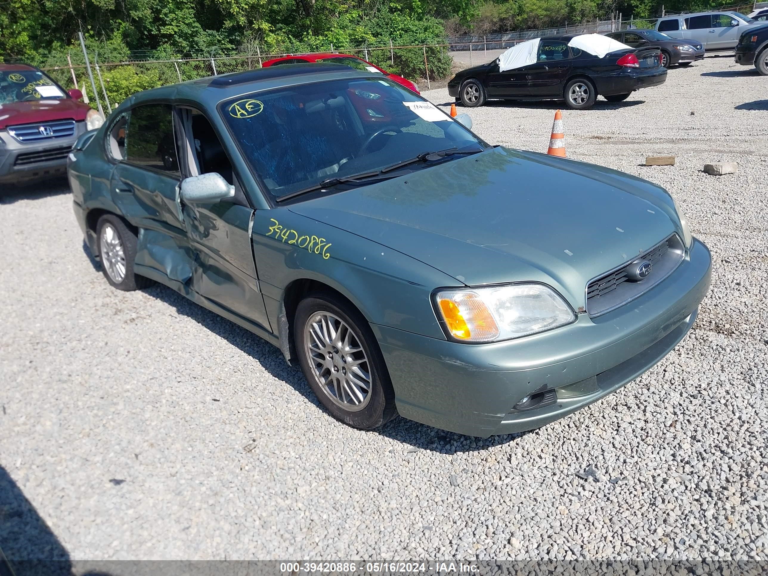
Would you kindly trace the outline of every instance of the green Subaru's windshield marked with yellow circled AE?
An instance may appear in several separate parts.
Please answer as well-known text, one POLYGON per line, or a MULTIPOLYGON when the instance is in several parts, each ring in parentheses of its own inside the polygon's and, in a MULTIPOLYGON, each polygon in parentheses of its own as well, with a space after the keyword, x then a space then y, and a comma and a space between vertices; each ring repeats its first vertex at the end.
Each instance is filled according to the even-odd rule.
MULTIPOLYGON (((487 147, 448 114, 384 78, 259 92, 224 101, 219 110, 243 157, 274 197, 425 152, 487 147)), ((445 160, 454 157, 460 156, 445 160)))

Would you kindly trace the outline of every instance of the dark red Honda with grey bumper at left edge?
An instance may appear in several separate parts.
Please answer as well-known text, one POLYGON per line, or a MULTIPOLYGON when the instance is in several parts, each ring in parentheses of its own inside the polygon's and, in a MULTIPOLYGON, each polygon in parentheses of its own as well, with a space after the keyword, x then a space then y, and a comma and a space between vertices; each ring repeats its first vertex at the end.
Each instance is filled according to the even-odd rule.
POLYGON ((37 68, 0 64, 0 184, 64 174, 80 134, 104 122, 37 68))

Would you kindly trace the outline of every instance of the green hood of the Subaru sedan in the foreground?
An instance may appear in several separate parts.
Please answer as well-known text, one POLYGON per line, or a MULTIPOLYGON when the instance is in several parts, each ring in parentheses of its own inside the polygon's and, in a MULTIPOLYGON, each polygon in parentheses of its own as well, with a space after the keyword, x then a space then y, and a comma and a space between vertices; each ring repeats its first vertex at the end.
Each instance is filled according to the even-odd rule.
POLYGON ((470 286, 547 283, 575 309, 589 280, 679 228, 667 192, 646 180, 501 147, 290 210, 470 286))

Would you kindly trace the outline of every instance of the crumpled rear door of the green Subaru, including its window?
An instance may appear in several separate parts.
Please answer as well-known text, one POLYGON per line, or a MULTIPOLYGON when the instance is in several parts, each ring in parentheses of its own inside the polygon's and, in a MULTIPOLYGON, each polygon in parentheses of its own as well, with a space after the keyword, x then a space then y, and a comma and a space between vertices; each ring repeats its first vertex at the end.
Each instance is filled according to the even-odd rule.
POLYGON ((111 177, 112 200, 139 229, 137 268, 168 276, 184 293, 194 254, 178 204, 181 174, 172 109, 169 104, 137 106, 114 123, 109 137, 114 144, 110 154, 118 161, 111 177))

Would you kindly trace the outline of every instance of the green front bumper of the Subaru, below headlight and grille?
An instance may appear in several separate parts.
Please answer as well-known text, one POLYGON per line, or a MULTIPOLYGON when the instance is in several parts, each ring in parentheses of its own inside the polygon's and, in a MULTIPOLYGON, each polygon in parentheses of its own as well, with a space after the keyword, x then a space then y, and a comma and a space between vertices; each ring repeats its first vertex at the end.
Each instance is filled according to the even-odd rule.
POLYGON ((487 438, 535 429, 621 388, 664 358, 686 335, 710 286, 711 257, 694 241, 674 273, 597 318, 580 314, 559 329, 506 342, 468 345, 372 326, 400 415, 487 438), (554 389, 554 404, 513 406, 554 389))

